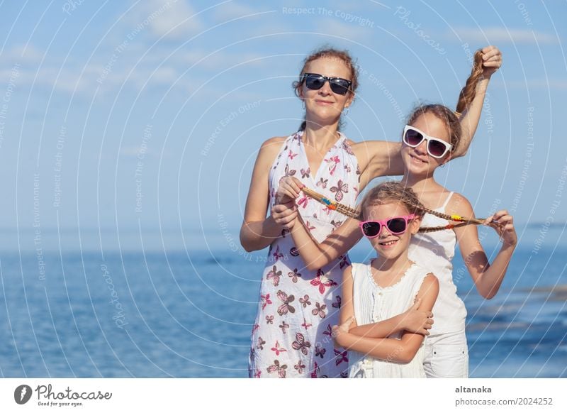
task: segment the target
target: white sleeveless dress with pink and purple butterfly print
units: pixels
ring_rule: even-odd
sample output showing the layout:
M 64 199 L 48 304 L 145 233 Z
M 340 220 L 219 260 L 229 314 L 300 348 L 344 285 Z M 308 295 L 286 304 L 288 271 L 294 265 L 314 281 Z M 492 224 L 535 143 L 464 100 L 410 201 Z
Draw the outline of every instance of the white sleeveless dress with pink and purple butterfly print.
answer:
M 325 197 L 354 206 L 360 171 L 347 139 L 341 135 L 319 170 L 311 171 L 302 136 L 303 132 L 289 136 L 271 167 L 271 205 L 281 178 L 294 176 Z M 305 225 L 319 242 L 345 219 L 303 193 L 296 202 Z M 252 327 L 250 377 L 347 376 L 347 352 L 334 348 L 331 336 L 331 326 L 339 319 L 342 270 L 347 265 L 349 258 L 343 255 L 320 270 L 306 270 L 293 239 L 282 231 L 269 248 L 262 275 L 257 318 Z

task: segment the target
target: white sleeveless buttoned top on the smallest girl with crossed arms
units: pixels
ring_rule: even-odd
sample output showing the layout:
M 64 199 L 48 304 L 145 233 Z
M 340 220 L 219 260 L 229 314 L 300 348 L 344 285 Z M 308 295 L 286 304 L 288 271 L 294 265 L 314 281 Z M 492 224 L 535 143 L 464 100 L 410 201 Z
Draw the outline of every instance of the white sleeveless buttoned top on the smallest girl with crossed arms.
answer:
M 359 326 L 376 323 L 409 309 L 429 270 L 413 264 L 395 285 L 374 282 L 370 263 L 352 264 L 354 317 Z M 401 332 L 388 338 L 401 338 Z M 423 344 L 410 363 L 395 363 L 349 351 L 349 378 L 425 378 Z

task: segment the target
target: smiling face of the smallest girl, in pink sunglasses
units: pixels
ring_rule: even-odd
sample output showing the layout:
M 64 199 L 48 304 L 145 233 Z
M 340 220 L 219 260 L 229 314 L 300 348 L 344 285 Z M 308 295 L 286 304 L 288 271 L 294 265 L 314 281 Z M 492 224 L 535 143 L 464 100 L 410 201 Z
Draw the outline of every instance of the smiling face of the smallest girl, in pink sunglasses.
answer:
M 381 221 L 395 218 L 398 216 L 408 216 L 410 212 L 399 202 L 374 205 L 366 208 L 365 221 Z M 408 251 L 411 236 L 420 229 L 420 219 L 414 218 L 408 221 L 404 233 L 393 234 L 388 230 L 388 226 L 381 226 L 380 233 L 376 238 L 369 238 L 370 243 L 383 258 L 398 258 L 401 254 Z

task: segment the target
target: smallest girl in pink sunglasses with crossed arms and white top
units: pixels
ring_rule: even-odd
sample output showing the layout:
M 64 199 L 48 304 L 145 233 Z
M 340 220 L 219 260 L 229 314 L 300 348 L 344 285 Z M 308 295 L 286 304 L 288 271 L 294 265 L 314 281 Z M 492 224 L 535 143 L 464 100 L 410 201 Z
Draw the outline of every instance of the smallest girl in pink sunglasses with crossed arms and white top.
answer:
M 360 229 L 378 256 L 343 272 L 342 325 L 333 333 L 336 343 L 350 351 L 350 378 L 425 378 L 421 334 L 398 331 L 372 338 L 371 331 L 373 323 L 402 314 L 415 299 L 427 311 L 437 299 L 437 278 L 408 258 L 423 215 L 419 204 L 399 182 L 378 185 L 361 202 Z

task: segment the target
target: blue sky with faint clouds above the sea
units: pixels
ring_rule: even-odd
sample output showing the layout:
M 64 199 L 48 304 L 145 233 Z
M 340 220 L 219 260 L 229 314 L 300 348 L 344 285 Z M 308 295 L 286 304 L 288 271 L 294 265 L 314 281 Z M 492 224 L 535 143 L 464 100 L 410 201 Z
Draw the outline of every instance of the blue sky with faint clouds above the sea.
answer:
M 565 225 L 565 1 L 4 1 L 0 13 L 1 228 L 237 238 L 257 150 L 298 127 L 291 82 L 324 44 L 361 69 L 354 141 L 397 141 L 417 101 L 454 106 L 470 53 L 498 45 L 471 150 L 437 177 L 478 216 L 502 206 Z

